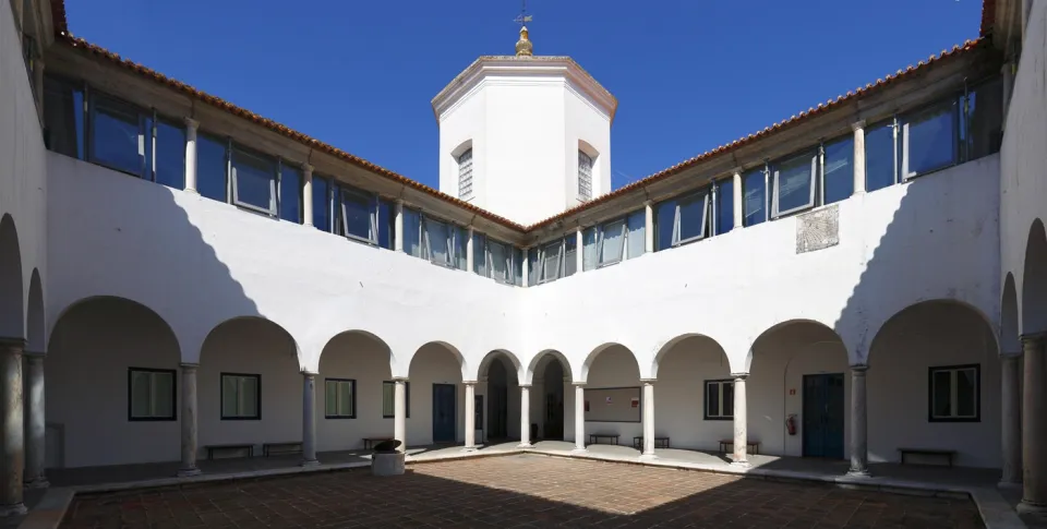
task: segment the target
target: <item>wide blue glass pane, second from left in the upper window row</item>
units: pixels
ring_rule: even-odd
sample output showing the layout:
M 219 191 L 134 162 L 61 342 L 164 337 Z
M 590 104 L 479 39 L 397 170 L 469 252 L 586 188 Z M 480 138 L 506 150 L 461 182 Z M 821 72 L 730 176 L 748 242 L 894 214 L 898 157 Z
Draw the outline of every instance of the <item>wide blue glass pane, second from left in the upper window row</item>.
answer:
M 95 96 L 94 104 L 91 160 L 142 176 L 145 167 L 145 136 L 137 110 L 101 95 Z

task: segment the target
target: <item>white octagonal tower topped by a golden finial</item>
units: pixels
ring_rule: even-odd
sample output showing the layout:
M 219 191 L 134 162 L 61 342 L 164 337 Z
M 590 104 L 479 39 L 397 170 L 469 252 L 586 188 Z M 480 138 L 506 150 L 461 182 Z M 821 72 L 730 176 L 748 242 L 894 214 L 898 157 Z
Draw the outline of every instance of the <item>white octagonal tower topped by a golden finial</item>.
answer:
M 440 190 L 530 225 L 611 191 L 617 99 L 565 56 L 483 56 L 433 98 Z

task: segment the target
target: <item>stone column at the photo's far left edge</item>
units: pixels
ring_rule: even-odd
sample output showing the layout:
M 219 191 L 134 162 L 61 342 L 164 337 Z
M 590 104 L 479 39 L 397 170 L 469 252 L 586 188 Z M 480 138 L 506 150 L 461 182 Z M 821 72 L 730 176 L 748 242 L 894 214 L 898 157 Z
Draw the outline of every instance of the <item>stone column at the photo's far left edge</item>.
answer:
M 0 482 L 0 517 L 25 514 L 22 502 L 22 476 L 25 468 L 25 416 L 22 410 L 22 349 L 21 338 L 0 340 L 0 369 L 3 370 L 3 397 L 0 412 L 3 419 L 3 481 Z

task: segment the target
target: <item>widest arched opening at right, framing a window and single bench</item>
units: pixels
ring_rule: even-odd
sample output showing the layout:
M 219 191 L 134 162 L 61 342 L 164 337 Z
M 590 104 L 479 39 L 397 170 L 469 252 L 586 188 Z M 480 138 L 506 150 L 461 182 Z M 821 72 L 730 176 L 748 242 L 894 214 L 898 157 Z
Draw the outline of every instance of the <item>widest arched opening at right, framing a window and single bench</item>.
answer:
M 999 468 L 999 349 L 976 309 L 952 300 L 903 309 L 874 337 L 866 377 L 871 462 L 918 447 L 955 450 L 955 465 Z

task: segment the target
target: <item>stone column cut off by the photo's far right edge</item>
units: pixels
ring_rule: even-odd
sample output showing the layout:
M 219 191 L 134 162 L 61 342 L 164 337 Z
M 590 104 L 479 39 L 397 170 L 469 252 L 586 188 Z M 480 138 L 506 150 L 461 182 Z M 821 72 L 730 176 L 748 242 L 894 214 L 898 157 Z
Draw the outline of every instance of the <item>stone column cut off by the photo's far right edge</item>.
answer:
M 1022 401 L 1022 503 L 1019 512 L 1047 513 L 1047 362 L 1044 335 L 1022 337 L 1025 384 Z

